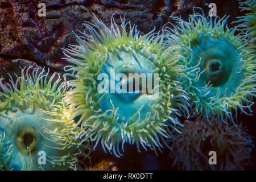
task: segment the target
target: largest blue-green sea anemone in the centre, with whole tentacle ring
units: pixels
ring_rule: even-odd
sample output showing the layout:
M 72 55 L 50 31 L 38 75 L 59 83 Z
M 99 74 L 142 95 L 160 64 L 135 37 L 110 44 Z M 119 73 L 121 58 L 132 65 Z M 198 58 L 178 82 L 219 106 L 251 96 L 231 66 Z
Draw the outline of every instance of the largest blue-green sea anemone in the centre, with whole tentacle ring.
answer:
M 94 148 L 101 143 L 105 152 L 107 148 L 118 157 L 125 143 L 136 144 L 138 151 L 140 146 L 145 150 L 160 149 L 164 138 L 171 137 L 170 129 L 181 125 L 177 116 L 188 112 L 187 94 L 178 81 L 183 70 L 176 65 L 179 56 L 175 49 L 166 48 L 163 35 L 150 32 L 140 36 L 135 26 L 123 20 L 121 29 L 113 18 L 110 28 L 96 17 L 94 23 L 84 26 L 88 32 L 76 35 L 79 46 L 64 49 L 65 59 L 75 64 L 65 68 L 74 73 L 69 75 L 74 79 L 69 81 L 72 89 L 65 100 L 75 111 L 73 116 L 80 117 L 77 138 L 96 141 Z M 127 78 L 119 80 L 111 70 Z M 143 93 L 142 85 L 146 81 L 140 80 L 138 90 L 124 86 L 126 93 L 112 93 L 112 83 L 134 84 L 129 73 L 158 74 L 159 84 L 153 83 L 152 88 L 158 88 L 159 92 Z M 110 83 L 107 91 L 110 93 L 98 92 L 100 74 L 108 77 L 105 81 Z

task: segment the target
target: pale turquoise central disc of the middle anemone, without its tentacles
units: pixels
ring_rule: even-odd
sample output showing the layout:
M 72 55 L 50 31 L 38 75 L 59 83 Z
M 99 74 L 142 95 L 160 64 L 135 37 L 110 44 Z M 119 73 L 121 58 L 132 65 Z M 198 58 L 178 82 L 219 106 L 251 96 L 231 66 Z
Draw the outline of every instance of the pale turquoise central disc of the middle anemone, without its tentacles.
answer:
M 130 119 L 139 109 L 144 119 L 149 110 L 148 100 L 152 94 L 148 94 L 147 81 L 154 77 L 155 65 L 143 52 L 124 49 L 117 53 L 109 53 L 109 59 L 102 67 L 101 73 L 108 75 L 108 93 L 105 93 L 101 102 L 101 109 L 106 111 L 112 109 L 112 104 L 118 107 L 117 116 L 120 119 Z M 126 78 L 119 78 L 118 75 Z M 150 76 L 148 76 L 150 75 Z M 122 85 L 122 86 L 118 86 Z M 126 88 L 123 88 L 125 86 Z M 119 89 L 126 93 L 118 93 Z M 154 88 L 154 81 L 150 88 Z M 146 91 L 146 92 L 143 92 Z

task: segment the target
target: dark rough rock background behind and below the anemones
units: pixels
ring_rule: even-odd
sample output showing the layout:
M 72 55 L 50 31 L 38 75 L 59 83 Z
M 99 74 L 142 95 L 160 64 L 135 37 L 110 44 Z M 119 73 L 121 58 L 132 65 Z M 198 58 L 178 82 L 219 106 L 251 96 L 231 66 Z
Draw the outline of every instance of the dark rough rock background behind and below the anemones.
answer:
M 38 16 L 40 2 L 46 4 L 46 17 Z M 92 13 L 106 24 L 110 24 L 113 14 L 118 24 L 121 23 L 119 16 L 125 16 L 126 20 L 138 25 L 141 34 L 145 34 L 154 26 L 159 31 L 164 25 L 168 26 L 168 22 L 175 23 L 170 16 L 188 19 L 193 6 L 201 7 L 208 14 L 209 8 L 205 3 L 211 2 L 216 3 L 218 16 L 230 15 L 229 28 L 234 26 L 231 23 L 237 16 L 243 15 L 236 0 L 0 0 L 0 77 L 9 78 L 7 73 L 19 75 L 19 67 L 30 65 L 64 73 L 63 67 L 68 63 L 61 60 L 64 57 L 61 48 L 76 44 L 72 31 L 84 30 L 82 23 L 90 22 Z M 255 126 L 251 127 L 255 129 Z M 171 168 L 167 149 L 158 157 L 151 151 L 139 154 L 135 146 L 127 146 L 126 150 L 125 156 L 117 159 L 102 152 L 99 145 L 92 154 L 92 163 L 108 159 L 113 161 L 111 164 L 117 163 L 119 169 L 176 169 Z M 255 167 L 249 166 L 248 169 Z

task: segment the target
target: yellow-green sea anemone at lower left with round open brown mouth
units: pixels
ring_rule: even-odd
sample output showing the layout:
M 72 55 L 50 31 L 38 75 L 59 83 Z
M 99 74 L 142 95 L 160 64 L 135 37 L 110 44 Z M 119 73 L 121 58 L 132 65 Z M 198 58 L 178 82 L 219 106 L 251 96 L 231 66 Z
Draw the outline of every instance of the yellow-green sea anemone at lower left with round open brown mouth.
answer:
M 22 69 L 15 82 L 12 77 L 9 84 L 0 81 L 0 134 L 12 146 L 11 169 L 76 169 L 81 151 L 72 144 L 73 122 L 62 99 L 67 82 L 56 74 L 48 77 L 44 69 L 31 75 L 30 70 Z

